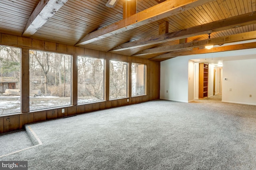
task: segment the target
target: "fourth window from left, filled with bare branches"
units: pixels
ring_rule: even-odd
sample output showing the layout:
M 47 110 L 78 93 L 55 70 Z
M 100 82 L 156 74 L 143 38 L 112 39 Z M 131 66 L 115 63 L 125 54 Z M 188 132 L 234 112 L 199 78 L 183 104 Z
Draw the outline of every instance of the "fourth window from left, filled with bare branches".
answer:
M 127 97 L 127 63 L 110 60 L 109 74 L 109 99 Z

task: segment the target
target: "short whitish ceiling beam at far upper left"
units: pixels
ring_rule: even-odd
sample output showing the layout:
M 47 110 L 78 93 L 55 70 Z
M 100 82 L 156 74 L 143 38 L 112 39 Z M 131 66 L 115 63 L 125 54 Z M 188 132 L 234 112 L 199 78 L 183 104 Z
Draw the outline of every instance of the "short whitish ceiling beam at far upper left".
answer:
M 22 36 L 32 36 L 51 18 L 68 0 L 41 0 L 28 18 Z

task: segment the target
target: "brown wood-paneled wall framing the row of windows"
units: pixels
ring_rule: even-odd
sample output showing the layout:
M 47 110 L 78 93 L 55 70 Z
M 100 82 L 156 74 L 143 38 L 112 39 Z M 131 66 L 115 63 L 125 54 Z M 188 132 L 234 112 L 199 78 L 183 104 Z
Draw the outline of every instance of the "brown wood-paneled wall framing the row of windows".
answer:
M 24 61 L 27 60 L 28 49 L 37 49 L 42 51 L 50 51 L 50 52 L 57 52 L 57 53 L 65 53 L 73 55 L 73 66 L 72 72 L 75 75 L 72 79 L 73 85 L 77 86 L 77 68 L 76 68 L 76 58 L 78 55 L 83 55 L 87 57 L 97 57 L 106 59 L 106 63 L 109 63 L 109 60 L 116 60 L 116 61 L 126 61 L 126 62 L 134 62 L 134 63 L 142 63 L 147 65 L 146 69 L 146 95 L 131 97 L 131 81 L 129 81 L 129 97 L 123 99 L 115 99 L 115 100 L 108 100 L 108 94 L 106 95 L 106 101 L 100 101 L 96 103 L 86 103 L 82 105 L 77 105 L 77 88 L 74 88 L 72 91 L 72 105 L 65 106 L 65 107 L 58 107 L 52 109 L 46 109 L 41 111 L 33 111 L 28 112 L 28 106 L 24 105 L 23 113 L 17 114 L 10 114 L 10 115 L 1 115 L 0 116 L 0 133 L 10 132 L 13 130 L 19 130 L 24 128 L 24 125 L 29 123 L 35 123 L 40 121 L 47 121 L 50 119 L 57 119 L 60 117 L 67 117 L 76 114 L 87 113 L 91 111 L 97 111 L 101 109 L 108 109 L 111 107 L 119 107 L 124 105 L 130 105 L 135 103 L 141 103 L 145 101 L 159 99 L 159 88 L 160 88 L 160 62 L 158 61 L 151 61 L 148 59 L 142 59 L 138 57 L 131 57 L 127 55 L 119 55 L 115 53 L 108 53 L 103 51 L 98 51 L 94 49 L 86 49 L 82 47 L 75 47 L 72 45 L 65 45 L 60 43 L 53 43 L 47 42 L 43 40 L 35 40 L 31 38 L 24 38 L 20 36 L 13 36 L 9 34 L 0 34 L 0 45 L 8 45 L 14 47 L 22 48 L 22 55 L 21 56 L 21 67 L 28 68 L 28 62 Z M 108 68 L 108 67 L 106 67 Z M 130 69 L 129 69 L 130 70 Z M 27 82 L 28 80 L 28 70 L 24 69 L 23 73 L 25 75 L 22 76 L 22 81 Z M 130 70 L 131 71 L 131 70 Z M 131 75 L 129 71 L 129 75 Z M 106 83 L 109 83 L 106 81 Z M 25 84 L 24 84 L 25 85 Z M 22 101 L 29 103 L 29 98 L 26 97 L 25 90 L 26 87 L 22 87 Z M 106 91 L 109 91 L 106 88 Z M 129 99 L 129 102 L 127 101 Z M 64 109 L 64 113 L 62 113 L 62 109 Z M 21 110 L 22 111 L 22 110 Z

